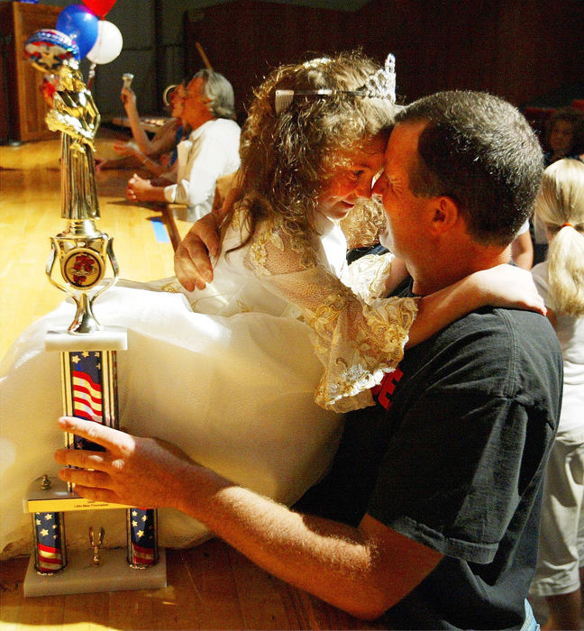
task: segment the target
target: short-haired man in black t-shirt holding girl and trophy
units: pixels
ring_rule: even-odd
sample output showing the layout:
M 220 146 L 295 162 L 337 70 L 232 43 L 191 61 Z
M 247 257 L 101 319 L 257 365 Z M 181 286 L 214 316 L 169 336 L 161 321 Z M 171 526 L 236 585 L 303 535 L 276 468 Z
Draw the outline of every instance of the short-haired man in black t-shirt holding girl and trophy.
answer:
M 383 242 L 411 274 L 403 293 L 508 261 L 541 163 L 525 119 L 497 97 L 441 93 L 400 113 L 375 192 Z M 81 495 L 178 508 L 355 616 L 394 628 L 531 629 L 525 597 L 560 383 L 547 321 L 488 307 L 406 352 L 376 389 L 378 405 L 348 416 L 332 471 L 297 509 L 174 446 L 80 419 L 59 424 L 105 453 L 56 459 L 95 470 L 61 471 Z

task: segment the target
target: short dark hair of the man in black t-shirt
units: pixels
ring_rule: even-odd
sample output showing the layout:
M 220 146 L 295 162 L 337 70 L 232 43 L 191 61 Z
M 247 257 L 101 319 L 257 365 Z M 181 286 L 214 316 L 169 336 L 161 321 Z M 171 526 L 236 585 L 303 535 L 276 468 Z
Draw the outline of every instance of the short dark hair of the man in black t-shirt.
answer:
M 427 121 L 410 165 L 416 196 L 452 197 L 470 234 L 506 245 L 531 215 L 543 171 L 534 131 L 516 107 L 484 92 L 452 90 L 424 96 L 396 123 Z

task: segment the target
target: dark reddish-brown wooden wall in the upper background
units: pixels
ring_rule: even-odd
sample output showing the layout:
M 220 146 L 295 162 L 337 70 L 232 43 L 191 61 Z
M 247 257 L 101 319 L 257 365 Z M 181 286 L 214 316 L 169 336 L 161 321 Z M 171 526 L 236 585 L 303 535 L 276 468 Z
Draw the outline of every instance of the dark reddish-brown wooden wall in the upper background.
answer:
M 273 66 L 355 47 L 379 61 L 396 54 L 406 101 L 462 88 L 524 105 L 584 78 L 583 8 L 582 0 L 372 0 L 346 13 L 236 0 L 186 14 L 185 69 L 203 66 L 199 41 L 232 82 L 240 118 Z

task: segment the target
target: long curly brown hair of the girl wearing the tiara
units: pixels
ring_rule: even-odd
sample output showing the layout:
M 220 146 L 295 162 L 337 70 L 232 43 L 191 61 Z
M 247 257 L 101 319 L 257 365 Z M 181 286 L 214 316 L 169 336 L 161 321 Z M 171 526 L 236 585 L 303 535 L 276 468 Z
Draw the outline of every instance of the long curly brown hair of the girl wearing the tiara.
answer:
M 357 90 L 378 69 L 360 51 L 342 52 L 280 66 L 255 90 L 242 131 L 235 205 L 249 229 L 245 242 L 260 222 L 277 216 L 293 237 L 303 239 L 314 232 L 321 191 L 348 165 L 357 143 L 389 133 L 395 114 L 388 99 L 342 94 L 294 96 L 277 114 L 276 90 Z

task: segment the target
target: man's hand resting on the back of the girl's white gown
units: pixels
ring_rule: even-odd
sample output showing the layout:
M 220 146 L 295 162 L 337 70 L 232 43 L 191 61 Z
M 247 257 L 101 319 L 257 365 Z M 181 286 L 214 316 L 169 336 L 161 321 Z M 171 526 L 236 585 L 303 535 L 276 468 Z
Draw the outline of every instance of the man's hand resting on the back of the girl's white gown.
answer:
M 220 248 L 217 220 L 209 213 L 193 224 L 175 252 L 175 274 L 187 291 L 203 289 L 213 280 L 211 258 Z

